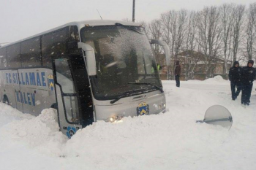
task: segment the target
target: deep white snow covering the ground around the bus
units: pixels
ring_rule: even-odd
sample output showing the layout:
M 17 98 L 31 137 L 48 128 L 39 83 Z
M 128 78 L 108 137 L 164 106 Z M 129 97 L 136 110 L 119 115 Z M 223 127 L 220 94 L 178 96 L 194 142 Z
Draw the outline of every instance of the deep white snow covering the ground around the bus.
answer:
M 53 109 L 34 117 L 0 104 L 0 169 L 256 169 L 255 86 L 244 108 L 218 77 L 181 82 L 181 88 L 174 81 L 163 85 L 165 114 L 99 121 L 69 140 Z M 233 115 L 229 131 L 195 123 L 214 104 Z

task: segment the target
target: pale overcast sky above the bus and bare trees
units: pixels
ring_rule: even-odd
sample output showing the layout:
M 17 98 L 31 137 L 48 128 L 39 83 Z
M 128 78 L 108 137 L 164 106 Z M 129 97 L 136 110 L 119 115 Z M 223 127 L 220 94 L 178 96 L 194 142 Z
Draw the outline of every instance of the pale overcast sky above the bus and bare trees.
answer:
M 135 20 L 159 18 L 170 9 L 203 9 L 224 3 L 255 0 L 136 0 Z M 79 20 L 132 20 L 132 0 L 0 0 L 0 43 L 15 42 L 56 26 Z

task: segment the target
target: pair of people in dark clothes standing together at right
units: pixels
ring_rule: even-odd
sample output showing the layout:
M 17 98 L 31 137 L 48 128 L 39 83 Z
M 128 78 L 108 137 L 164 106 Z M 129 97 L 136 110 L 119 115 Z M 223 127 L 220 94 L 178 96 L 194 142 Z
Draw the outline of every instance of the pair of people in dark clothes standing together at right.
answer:
M 232 99 L 236 100 L 242 91 L 241 104 L 250 103 L 253 81 L 256 77 L 256 70 L 253 68 L 254 61 L 249 60 L 247 66 L 241 68 L 239 62 L 235 61 L 228 74 L 231 86 Z

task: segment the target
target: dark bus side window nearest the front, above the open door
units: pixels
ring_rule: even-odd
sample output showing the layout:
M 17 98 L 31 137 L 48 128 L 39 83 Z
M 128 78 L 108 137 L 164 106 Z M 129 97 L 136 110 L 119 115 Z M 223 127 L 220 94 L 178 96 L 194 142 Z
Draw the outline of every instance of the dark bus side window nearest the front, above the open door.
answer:
M 51 56 L 67 55 L 67 28 L 42 36 L 42 65 L 52 67 Z

